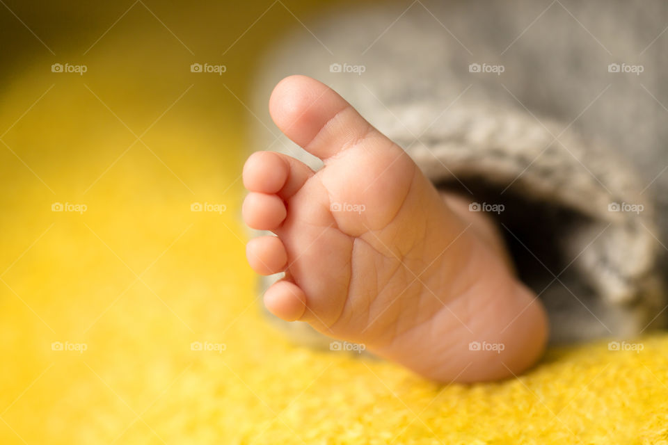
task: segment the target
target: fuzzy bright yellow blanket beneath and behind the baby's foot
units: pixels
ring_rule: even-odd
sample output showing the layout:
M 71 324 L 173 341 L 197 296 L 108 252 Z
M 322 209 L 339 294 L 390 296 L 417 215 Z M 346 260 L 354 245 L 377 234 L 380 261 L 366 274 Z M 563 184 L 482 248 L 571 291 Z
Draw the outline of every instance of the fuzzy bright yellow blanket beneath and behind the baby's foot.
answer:
M 239 218 L 250 85 L 267 45 L 331 4 L 0 3 L 1 444 L 666 438 L 643 405 L 667 400 L 661 357 L 640 385 L 630 355 L 571 349 L 441 388 L 262 318 Z M 613 371 L 610 400 L 591 397 Z

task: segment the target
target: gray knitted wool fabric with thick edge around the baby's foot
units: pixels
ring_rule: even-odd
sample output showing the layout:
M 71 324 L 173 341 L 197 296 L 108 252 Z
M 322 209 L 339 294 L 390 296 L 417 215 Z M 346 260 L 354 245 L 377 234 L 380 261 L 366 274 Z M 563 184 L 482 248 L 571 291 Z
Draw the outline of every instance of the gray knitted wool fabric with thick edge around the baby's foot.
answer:
M 258 72 L 255 149 L 319 168 L 264 111 L 280 79 L 312 76 L 491 210 L 553 342 L 665 324 L 668 3 L 378 3 L 305 26 Z

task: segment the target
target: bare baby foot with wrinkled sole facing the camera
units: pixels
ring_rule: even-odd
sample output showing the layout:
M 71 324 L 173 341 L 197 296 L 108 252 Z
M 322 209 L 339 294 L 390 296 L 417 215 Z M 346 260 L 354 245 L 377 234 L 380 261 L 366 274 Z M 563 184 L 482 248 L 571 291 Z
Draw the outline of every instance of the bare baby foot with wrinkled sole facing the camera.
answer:
M 546 316 L 481 229 L 486 217 L 443 200 L 403 149 L 314 79 L 281 81 L 269 111 L 324 161 L 315 172 L 257 152 L 244 166 L 244 220 L 277 235 L 251 240 L 248 262 L 286 273 L 264 295 L 269 311 L 439 382 L 536 362 Z

